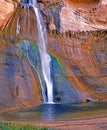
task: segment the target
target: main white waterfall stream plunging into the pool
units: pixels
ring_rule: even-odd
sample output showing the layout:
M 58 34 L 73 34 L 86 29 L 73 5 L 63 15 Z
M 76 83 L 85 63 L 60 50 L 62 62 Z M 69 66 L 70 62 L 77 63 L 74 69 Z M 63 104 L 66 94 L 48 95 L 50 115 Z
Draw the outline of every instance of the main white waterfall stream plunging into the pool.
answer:
M 47 101 L 48 103 L 53 103 L 53 84 L 51 81 L 50 74 L 50 61 L 51 57 L 47 53 L 46 44 L 47 44 L 47 33 L 43 17 L 40 13 L 40 10 L 37 5 L 36 0 L 28 0 L 26 3 L 33 8 L 35 12 L 35 17 L 37 19 L 37 33 L 38 33 L 38 49 L 41 59 L 41 69 L 43 78 L 45 81 L 46 92 L 47 92 Z M 43 86 L 42 86 L 43 87 Z

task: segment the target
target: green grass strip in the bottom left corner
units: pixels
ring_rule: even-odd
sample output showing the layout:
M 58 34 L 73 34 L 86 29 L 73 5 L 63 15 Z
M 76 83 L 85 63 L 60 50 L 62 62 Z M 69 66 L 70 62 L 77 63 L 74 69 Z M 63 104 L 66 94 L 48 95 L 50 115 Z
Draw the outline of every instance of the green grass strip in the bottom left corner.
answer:
M 0 130 L 52 130 L 47 127 L 24 125 L 21 123 L 0 122 Z

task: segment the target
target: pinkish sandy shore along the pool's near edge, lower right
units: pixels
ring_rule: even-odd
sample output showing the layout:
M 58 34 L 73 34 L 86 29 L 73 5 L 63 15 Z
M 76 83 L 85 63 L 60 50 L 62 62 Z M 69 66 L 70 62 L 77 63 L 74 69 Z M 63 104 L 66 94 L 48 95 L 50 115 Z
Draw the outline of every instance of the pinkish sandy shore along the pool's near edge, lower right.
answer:
M 107 117 L 72 121 L 35 122 L 33 124 L 57 130 L 107 130 Z

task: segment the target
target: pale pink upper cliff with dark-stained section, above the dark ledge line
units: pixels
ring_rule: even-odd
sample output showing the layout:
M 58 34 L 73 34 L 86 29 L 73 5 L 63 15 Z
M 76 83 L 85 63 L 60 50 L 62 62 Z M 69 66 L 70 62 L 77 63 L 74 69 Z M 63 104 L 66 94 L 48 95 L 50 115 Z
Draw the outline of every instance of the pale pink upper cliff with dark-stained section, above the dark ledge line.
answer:
M 50 30 L 60 32 L 107 29 L 107 2 L 99 0 L 65 0 L 40 6 L 48 15 Z M 47 12 L 48 10 L 48 12 Z M 59 19 L 58 19 L 59 17 Z M 58 23 L 59 22 L 59 23 Z M 60 25 L 60 26 L 59 26 Z

